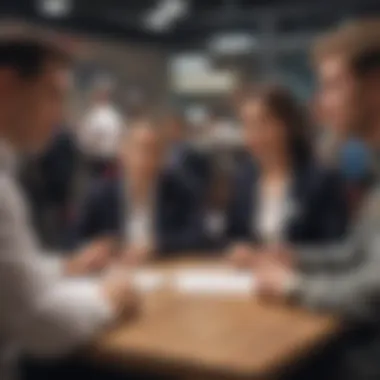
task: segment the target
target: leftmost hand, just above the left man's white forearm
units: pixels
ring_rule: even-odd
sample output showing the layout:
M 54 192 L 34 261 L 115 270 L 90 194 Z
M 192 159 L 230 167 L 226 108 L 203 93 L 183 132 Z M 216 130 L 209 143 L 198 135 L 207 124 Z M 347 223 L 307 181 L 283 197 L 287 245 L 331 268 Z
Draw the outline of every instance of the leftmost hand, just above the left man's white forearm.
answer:
M 70 276 L 80 276 L 98 272 L 108 265 L 112 253 L 112 239 L 101 238 L 96 240 L 66 261 L 65 273 Z

